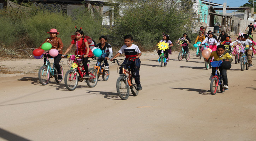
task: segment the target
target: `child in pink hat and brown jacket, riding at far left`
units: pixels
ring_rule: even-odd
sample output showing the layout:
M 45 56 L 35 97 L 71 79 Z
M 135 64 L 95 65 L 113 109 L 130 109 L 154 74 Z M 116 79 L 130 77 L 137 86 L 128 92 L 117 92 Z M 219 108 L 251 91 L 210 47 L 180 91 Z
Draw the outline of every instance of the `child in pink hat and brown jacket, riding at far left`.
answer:
M 61 39 L 57 37 L 59 32 L 56 29 L 50 29 L 50 31 L 47 32 L 47 33 L 50 34 L 50 37 L 46 38 L 43 43 L 46 43 L 46 42 L 50 43 L 50 44 L 52 44 L 52 48 L 51 49 L 57 49 L 59 51 L 59 54 L 54 57 L 54 62 L 53 63 L 54 63 L 54 66 L 56 67 L 57 72 L 58 72 L 58 79 L 61 80 L 62 79 L 62 75 L 61 75 L 60 64 L 59 63 L 60 63 L 60 60 L 61 60 L 63 43 L 62 43 Z M 38 48 L 41 48 L 42 44 Z M 52 57 L 49 54 L 48 55 L 44 54 L 44 57 L 43 57 L 44 64 L 46 63 L 47 56 L 48 57 Z

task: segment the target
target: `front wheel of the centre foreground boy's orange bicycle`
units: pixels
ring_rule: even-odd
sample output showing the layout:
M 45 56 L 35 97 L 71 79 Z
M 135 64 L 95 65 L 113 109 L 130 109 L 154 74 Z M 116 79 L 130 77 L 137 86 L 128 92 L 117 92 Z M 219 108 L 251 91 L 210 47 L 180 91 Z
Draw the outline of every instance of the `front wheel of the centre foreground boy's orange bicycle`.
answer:
M 117 93 L 123 100 L 126 100 L 129 97 L 129 85 L 124 76 L 119 76 L 117 79 Z

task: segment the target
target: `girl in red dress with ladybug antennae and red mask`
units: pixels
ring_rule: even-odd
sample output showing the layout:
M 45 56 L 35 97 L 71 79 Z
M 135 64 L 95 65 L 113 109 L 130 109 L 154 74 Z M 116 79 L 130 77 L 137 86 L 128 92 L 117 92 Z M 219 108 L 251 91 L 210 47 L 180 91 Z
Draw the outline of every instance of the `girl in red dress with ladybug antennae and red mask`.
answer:
M 81 29 L 82 27 L 80 28 L 80 30 L 77 29 L 75 33 L 76 38 L 71 41 L 69 48 L 67 48 L 65 53 L 62 55 L 62 58 L 64 58 L 64 56 L 70 51 L 73 45 L 76 44 L 75 55 L 78 54 L 83 56 L 82 62 L 85 70 L 85 76 L 83 78 L 90 78 L 87 60 L 89 59 L 89 57 L 93 57 L 93 53 L 88 45 L 87 39 L 84 38 L 84 32 L 81 31 Z

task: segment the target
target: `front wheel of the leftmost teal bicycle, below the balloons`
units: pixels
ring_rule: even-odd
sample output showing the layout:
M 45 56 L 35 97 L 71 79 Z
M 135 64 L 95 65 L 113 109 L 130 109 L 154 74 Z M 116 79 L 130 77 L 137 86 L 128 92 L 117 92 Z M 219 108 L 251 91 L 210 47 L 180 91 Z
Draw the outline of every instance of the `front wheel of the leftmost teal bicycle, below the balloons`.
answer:
M 47 66 L 40 67 L 38 71 L 38 78 L 42 85 L 47 85 L 50 81 L 50 72 L 47 71 Z

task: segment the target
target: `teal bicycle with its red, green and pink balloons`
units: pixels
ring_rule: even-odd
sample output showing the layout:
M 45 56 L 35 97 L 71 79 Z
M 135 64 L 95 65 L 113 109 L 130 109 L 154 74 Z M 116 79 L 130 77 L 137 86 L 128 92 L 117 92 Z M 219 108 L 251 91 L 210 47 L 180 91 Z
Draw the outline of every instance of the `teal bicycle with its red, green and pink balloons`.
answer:
M 59 51 L 56 49 L 51 49 L 52 45 L 50 43 L 43 43 L 41 48 L 42 49 L 35 49 L 33 51 L 35 59 L 41 59 L 44 54 L 46 54 L 46 62 L 42 67 L 40 67 L 38 71 L 38 78 L 40 83 L 42 85 L 47 85 L 50 81 L 50 78 L 53 77 L 57 83 L 61 82 L 63 78 L 62 66 L 60 65 L 61 74 L 58 74 L 56 67 L 54 65 L 51 67 L 50 61 L 48 59 L 48 57 L 57 56 L 59 54 Z M 61 75 L 61 79 L 60 77 L 58 77 L 58 75 Z

